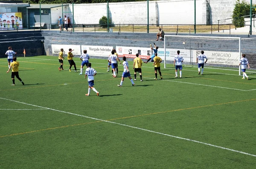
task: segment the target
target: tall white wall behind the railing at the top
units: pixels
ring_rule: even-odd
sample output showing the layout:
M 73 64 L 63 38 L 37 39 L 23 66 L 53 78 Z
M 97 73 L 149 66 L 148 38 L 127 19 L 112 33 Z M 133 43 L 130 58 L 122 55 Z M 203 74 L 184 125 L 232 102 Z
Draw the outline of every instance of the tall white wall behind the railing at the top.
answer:
M 236 0 L 156 0 L 149 1 L 149 24 L 194 24 L 195 2 L 196 24 L 232 22 L 224 19 L 232 17 Z M 69 8 L 72 12 L 72 4 Z M 114 24 L 147 24 L 147 1 L 109 3 L 109 15 Z M 107 16 L 107 3 L 74 4 L 75 24 L 98 24 L 102 16 Z

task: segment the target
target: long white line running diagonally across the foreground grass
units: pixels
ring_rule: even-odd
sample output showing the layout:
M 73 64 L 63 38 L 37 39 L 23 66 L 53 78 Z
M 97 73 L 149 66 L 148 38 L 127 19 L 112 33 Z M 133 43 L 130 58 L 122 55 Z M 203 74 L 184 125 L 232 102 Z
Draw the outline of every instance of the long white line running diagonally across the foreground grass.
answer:
M 213 144 L 204 143 L 204 142 L 201 142 L 201 141 L 192 140 L 192 139 L 188 139 L 188 138 L 177 137 L 177 136 L 174 136 L 174 135 L 168 135 L 168 134 L 164 134 L 164 133 L 160 133 L 160 132 L 155 132 L 155 131 L 152 131 L 152 130 L 143 129 L 143 128 L 139 128 L 139 127 L 134 127 L 134 126 L 130 126 L 130 125 L 122 124 L 122 123 L 116 123 L 116 122 L 113 122 L 113 121 L 102 120 L 102 119 L 98 119 L 98 118 L 94 118 L 94 117 L 88 117 L 88 116 L 84 116 L 84 115 L 78 115 L 78 114 L 75 114 L 75 113 L 70 113 L 70 112 L 65 112 L 65 111 L 61 111 L 61 110 L 51 109 L 51 108 L 47 108 L 47 107 L 43 107 L 43 106 L 37 106 L 37 105 L 29 104 L 29 103 L 23 103 L 23 102 L 20 102 L 20 101 L 10 100 L 10 99 L 6 99 L 6 98 L 2 98 L 2 97 L 0 97 L 0 99 L 9 100 L 9 101 L 13 101 L 13 102 L 16 102 L 16 103 L 22 103 L 22 104 L 26 104 L 26 105 L 29 105 L 29 106 L 35 106 L 35 107 L 40 107 L 40 108 L 44 108 L 44 109 L 49 109 L 49 110 L 56 111 L 56 112 L 63 112 L 63 113 L 67 113 L 67 114 L 70 114 L 70 115 L 86 117 L 86 118 L 90 118 L 90 119 L 97 120 L 97 121 L 117 124 L 117 125 L 120 125 L 120 126 L 126 126 L 126 127 L 130 127 L 130 128 L 133 128 L 133 129 L 139 129 L 139 130 L 143 130 L 143 131 L 146 131 L 146 132 L 156 133 L 156 134 L 159 134 L 159 135 L 165 135 L 165 136 L 174 137 L 174 138 L 178 138 L 178 139 L 182 139 L 182 140 L 192 141 L 192 142 L 195 142 L 195 143 L 201 143 L 201 144 L 204 144 L 204 145 L 207 145 L 207 146 L 213 146 L 213 147 L 216 147 L 216 148 L 226 149 L 226 150 L 229 150 L 229 151 L 232 151 L 232 152 L 238 152 L 238 153 L 241 153 L 241 154 L 256 157 L 256 155 L 249 154 L 249 153 L 246 153 L 246 152 L 241 152 L 241 151 L 234 150 L 234 149 L 229 149 L 229 148 L 225 148 L 225 147 L 221 147 L 221 146 L 216 146 L 216 145 L 213 145 Z M 46 130 L 46 129 L 44 129 L 44 130 Z

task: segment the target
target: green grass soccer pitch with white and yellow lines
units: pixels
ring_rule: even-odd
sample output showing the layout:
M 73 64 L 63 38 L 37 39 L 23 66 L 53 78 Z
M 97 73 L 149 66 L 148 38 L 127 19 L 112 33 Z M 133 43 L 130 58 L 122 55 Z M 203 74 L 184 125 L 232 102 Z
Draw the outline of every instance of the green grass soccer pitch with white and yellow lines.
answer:
M 11 86 L 0 59 L 1 169 L 255 169 L 254 74 L 183 67 L 180 79 L 168 65 L 154 80 L 143 63 L 143 82 L 118 87 L 122 65 L 113 78 L 107 60 L 91 58 L 99 97 L 87 97 L 87 79 L 68 71 L 67 58 L 61 72 L 58 57 L 17 61 L 24 86 Z

